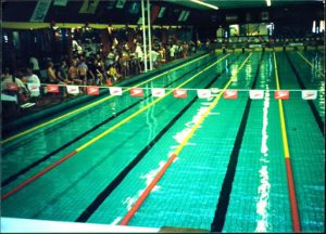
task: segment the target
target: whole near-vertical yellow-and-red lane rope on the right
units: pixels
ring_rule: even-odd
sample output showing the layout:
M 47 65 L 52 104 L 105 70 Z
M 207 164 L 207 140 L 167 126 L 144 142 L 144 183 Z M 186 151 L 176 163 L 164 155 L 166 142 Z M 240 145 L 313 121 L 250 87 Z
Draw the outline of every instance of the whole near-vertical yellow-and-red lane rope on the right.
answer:
M 274 55 L 274 70 L 275 70 L 276 88 L 277 88 L 277 90 L 280 90 L 275 52 L 273 53 L 273 55 Z M 280 119 L 284 156 L 285 156 L 286 170 L 287 170 L 287 182 L 288 182 L 288 192 L 289 192 L 289 199 L 290 199 L 292 230 L 293 230 L 293 232 L 301 232 L 300 218 L 299 218 L 297 197 L 296 197 L 294 180 L 293 180 L 291 161 L 290 161 L 290 153 L 289 153 L 287 130 L 286 130 L 286 123 L 285 123 L 285 117 L 284 117 L 284 109 L 283 109 L 281 100 L 278 100 L 278 109 L 279 109 L 279 119 Z

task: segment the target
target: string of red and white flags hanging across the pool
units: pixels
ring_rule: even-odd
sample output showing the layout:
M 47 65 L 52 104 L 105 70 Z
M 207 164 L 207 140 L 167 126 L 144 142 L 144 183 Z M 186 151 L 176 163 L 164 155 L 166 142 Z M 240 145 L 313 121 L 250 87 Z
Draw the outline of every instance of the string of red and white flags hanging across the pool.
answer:
M 30 93 L 39 93 L 40 84 L 32 84 L 28 83 L 27 88 Z M 96 87 L 96 86 L 61 86 L 61 84 L 46 84 L 46 90 L 49 93 L 59 93 L 60 87 L 66 87 L 66 91 L 70 94 L 78 94 L 82 92 L 80 88 L 85 87 L 85 91 L 88 95 L 99 95 L 100 88 L 109 89 L 111 95 L 123 95 L 123 87 Z M 151 94 L 154 98 L 161 98 L 165 95 L 166 90 L 173 90 L 173 96 L 175 99 L 187 99 L 188 91 L 197 91 L 197 95 L 199 99 L 210 99 L 222 90 L 217 88 L 211 89 L 173 89 L 173 88 L 124 88 L 129 89 L 129 95 L 135 98 L 142 98 L 145 95 L 143 90 L 150 89 Z M 249 92 L 249 98 L 251 100 L 262 100 L 265 96 L 266 92 L 274 92 L 275 100 L 289 100 L 290 91 L 300 91 L 302 100 L 315 100 L 317 99 L 318 91 L 317 90 L 236 90 L 236 89 L 227 89 L 223 93 L 223 98 L 226 100 L 237 100 L 238 93 L 241 91 Z

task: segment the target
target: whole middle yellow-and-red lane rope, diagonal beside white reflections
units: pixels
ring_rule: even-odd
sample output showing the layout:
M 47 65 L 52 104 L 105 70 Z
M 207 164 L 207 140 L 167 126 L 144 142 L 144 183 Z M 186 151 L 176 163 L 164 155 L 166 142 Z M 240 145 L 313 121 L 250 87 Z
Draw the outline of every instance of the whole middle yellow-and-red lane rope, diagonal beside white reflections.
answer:
M 185 145 L 188 143 L 188 141 L 191 139 L 193 133 L 197 131 L 197 129 L 200 127 L 200 125 L 203 122 L 203 120 L 206 118 L 206 116 L 210 114 L 210 112 L 216 106 L 218 103 L 221 96 L 223 95 L 224 91 L 230 86 L 230 83 L 236 78 L 239 70 L 244 66 L 247 61 L 250 58 L 252 53 L 250 53 L 244 62 L 241 64 L 241 66 L 237 69 L 237 72 L 231 76 L 230 80 L 226 83 L 226 86 L 221 90 L 218 95 L 215 98 L 215 100 L 212 102 L 212 104 L 208 107 L 208 109 L 203 113 L 201 118 L 198 120 L 198 122 L 191 128 L 187 136 L 184 139 L 184 141 L 178 145 L 176 151 L 172 153 L 168 160 L 165 162 L 165 165 L 162 167 L 162 169 L 159 171 L 159 173 L 155 176 L 155 178 L 152 180 L 152 182 L 146 187 L 146 190 L 142 192 L 142 194 L 139 196 L 135 205 L 131 207 L 131 209 L 126 213 L 126 216 L 122 219 L 120 222 L 120 225 L 127 225 L 130 219 L 134 217 L 134 214 L 137 212 L 137 210 L 140 208 L 141 204 L 145 202 L 145 199 L 148 197 L 150 192 L 154 188 L 156 183 L 160 181 L 160 179 L 163 177 L 167 168 L 171 166 L 171 164 L 175 160 L 175 158 L 178 156 L 178 154 L 183 151 Z

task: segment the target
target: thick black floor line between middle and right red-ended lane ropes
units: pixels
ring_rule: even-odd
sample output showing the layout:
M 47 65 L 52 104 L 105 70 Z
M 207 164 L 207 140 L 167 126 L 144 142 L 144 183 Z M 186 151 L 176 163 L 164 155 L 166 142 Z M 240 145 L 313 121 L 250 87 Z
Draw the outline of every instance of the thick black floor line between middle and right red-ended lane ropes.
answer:
M 261 68 L 261 64 L 263 61 L 263 56 L 264 56 L 264 52 L 262 53 L 262 56 L 260 58 L 256 73 L 254 75 L 254 80 L 251 84 L 251 89 L 255 88 L 260 68 Z M 250 106 L 251 106 L 251 99 L 248 99 L 246 107 L 244 107 L 244 112 L 242 115 L 241 123 L 240 123 L 239 130 L 237 132 L 234 148 L 230 154 L 230 159 L 227 165 L 227 171 L 226 171 L 226 174 L 223 180 L 223 185 L 222 185 L 222 188 L 220 192 L 220 197 L 218 197 L 214 219 L 211 224 L 211 232 L 222 232 L 223 226 L 224 226 L 225 217 L 226 217 L 226 212 L 227 212 L 227 208 L 228 208 L 228 204 L 229 204 L 229 197 L 230 197 L 230 193 L 233 190 L 233 183 L 234 183 L 236 169 L 237 169 L 237 165 L 238 165 L 238 157 L 239 157 L 241 143 L 242 143 L 242 139 L 243 139 L 243 134 L 244 134 L 244 130 L 246 130 L 246 126 L 247 126 L 247 121 L 248 121 L 248 116 L 249 116 L 249 112 L 250 112 Z

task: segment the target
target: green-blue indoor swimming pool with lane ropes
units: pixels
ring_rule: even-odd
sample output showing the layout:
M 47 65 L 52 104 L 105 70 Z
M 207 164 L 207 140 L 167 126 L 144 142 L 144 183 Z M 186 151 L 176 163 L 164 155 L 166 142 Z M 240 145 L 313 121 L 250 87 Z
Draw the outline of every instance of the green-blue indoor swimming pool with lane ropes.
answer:
M 120 224 L 166 169 L 128 225 L 291 232 L 277 72 L 280 89 L 290 90 L 283 109 L 301 229 L 322 232 L 323 57 L 204 55 L 141 84 L 143 98 L 126 90 L 4 142 L 2 216 Z M 162 87 L 164 96 L 150 95 Z M 173 88 L 188 89 L 187 98 L 174 98 Z M 209 88 L 220 92 L 198 99 L 196 89 Z M 222 98 L 224 88 L 238 99 Z M 250 100 L 250 89 L 265 90 L 264 99 Z M 317 99 L 302 100 L 303 89 L 318 90 Z

